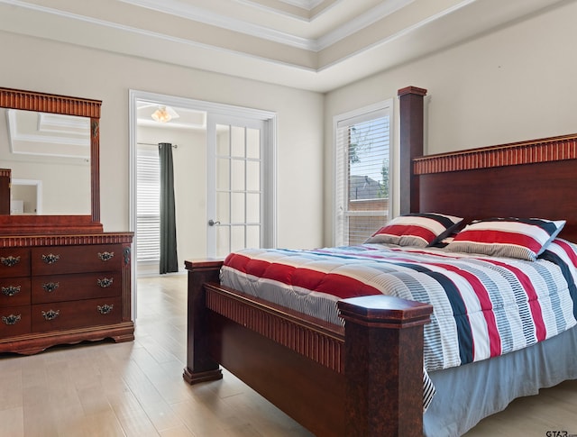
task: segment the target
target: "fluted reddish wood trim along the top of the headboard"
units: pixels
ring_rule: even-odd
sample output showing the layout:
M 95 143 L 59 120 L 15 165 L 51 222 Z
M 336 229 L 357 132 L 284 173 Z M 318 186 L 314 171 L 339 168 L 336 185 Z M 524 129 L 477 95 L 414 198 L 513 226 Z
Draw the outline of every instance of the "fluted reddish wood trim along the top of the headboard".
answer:
M 577 159 L 577 133 L 414 159 L 416 175 Z

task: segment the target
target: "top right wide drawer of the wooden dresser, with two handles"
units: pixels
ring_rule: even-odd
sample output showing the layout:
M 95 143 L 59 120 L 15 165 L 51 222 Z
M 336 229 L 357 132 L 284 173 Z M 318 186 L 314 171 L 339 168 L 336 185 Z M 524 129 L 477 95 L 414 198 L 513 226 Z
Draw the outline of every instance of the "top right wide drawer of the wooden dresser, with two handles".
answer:
M 32 275 L 120 270 L 122 244 L 52 246 L 32 249 Z

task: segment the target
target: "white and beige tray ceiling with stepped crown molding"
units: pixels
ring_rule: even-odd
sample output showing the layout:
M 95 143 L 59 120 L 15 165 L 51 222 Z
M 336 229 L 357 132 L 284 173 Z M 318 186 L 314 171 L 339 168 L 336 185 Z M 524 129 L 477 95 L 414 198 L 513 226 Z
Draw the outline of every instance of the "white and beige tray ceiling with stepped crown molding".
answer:
M 0 0 L 0 30 L 325 92 L 562 1 Z

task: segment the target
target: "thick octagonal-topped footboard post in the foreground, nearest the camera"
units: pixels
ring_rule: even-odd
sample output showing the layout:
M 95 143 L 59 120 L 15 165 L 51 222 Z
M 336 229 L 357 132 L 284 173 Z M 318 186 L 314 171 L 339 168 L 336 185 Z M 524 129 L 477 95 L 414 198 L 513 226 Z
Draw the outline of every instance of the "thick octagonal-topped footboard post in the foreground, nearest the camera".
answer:
M 393 296 L 338 303 L 348 437 L 423 435 L 423 325 L 433 306 Z

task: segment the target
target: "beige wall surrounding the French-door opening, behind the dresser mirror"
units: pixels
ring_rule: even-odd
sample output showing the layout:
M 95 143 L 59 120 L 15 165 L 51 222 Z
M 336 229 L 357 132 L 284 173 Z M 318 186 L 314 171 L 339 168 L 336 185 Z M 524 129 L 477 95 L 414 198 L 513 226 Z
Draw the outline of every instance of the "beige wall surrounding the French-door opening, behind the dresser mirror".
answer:
M 100 204 L 105 231 L 129 227 L 128 93 L 136 89 L 276 112 L 278 244 L 322 244 L 322 95 L 6 32 L 0 32 L 0 59 L 0 86 L 103 101 Z

